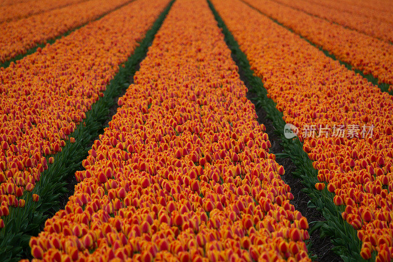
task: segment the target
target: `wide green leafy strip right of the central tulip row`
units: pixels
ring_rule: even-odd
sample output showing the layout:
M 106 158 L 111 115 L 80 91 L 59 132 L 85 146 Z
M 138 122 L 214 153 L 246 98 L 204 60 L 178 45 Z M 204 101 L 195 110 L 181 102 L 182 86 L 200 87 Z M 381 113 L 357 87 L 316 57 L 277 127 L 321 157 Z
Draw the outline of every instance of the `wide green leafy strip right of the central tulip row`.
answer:
M 337 206 L 333 202 L 334 193 L 330 193 L 325 187 L 324 190 L 315 189 L 315 183 L 318 172 L 312 167 L 312 161 L 307 153 L 303 150 L 303 144 L 299 139 L 286 139 L 284 136 L 283 113 L 276 108 L 276 103 L 268 98 L 267 90 L 263 87 L 262 80 L 254 75 L 251 70 L 247 56 L 240 50 L 240 47 L 234 39 L 231 32 L 225 26 L 213 4 L 207 0 L 220 28 L 223 29 L 225 41 L 232 51 L 232 55 L 238 60 L 238 66 L 242 69 L 245 78 L 252 88 L 251 91 L 256 94 L 257 100 L 254 101 L 256 106 L 263 108 L 267 112 L 267 117 L 273 121 L 277 134 L 280 136 L 284 151 L 290 156 L 292 162 L 296 166 L 293 175 L 300 177 L 306 192 L 310 199 L 310 207 L 315 207 L 322 213 L 326 221 L 319 221 L 310 225 L 310 232 L 316 229 L 321 230 L 321 238 L 330 236 L 332 243 L 335 245 L 333 251 L 341 257 L 345 262 L 365 261 L 360 256 L 362 243 L 357 236 L 356 230 L 341 218 L 341 212 L 344 211 L 343 206 Z M 311 243 L 312 244 L 312 243 Z M 310 254 L 312 257 L 312 254 Z M 375 252 L 371 261 L 375 261 Z

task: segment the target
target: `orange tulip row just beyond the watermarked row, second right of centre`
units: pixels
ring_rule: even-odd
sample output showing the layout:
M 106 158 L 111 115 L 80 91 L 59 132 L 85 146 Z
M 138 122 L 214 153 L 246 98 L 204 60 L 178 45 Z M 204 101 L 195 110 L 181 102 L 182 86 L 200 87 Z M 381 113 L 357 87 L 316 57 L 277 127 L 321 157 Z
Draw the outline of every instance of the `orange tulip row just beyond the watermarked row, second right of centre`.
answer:
M 371 74 L 392 90 L 393 46 L 374 37 L 306 14 L 272 0 L 244 0 L 338 59 Z

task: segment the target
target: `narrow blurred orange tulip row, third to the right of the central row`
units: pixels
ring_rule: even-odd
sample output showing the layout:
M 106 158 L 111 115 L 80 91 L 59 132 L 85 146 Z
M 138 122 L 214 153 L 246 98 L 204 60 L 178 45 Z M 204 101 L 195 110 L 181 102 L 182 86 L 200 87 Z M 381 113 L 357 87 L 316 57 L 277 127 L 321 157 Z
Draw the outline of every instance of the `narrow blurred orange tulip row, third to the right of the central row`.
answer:
M 374 17 L 359 15 L 358 13 L 350 13 L 346 11 L 337 10 L 337 8 L 326 7 L 320 3 L 312 3 L 308 0 L 289 1 L 289 0 L 275 0 L 284 5 L 288 5 L 295 9 L 304 11 L 311 15 L 324 18 L 328 21 L 337 23 L 344 27 L 357 30 L 367 35 L 373 36 L 386 42 L 393 42 L 393 20 L 389 22 L 375 19 Z M 376 11 L 377 17 L 381 16 L 380 11 Z M 392 19 L 392 14 L 387 15 L 387 18 Z

